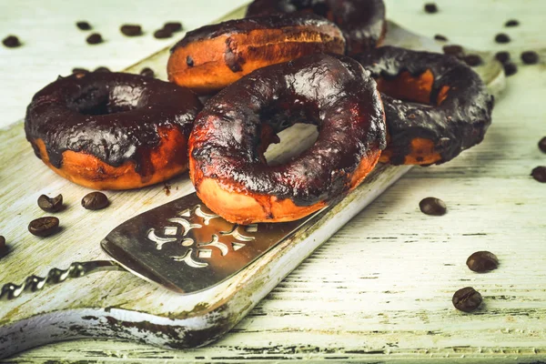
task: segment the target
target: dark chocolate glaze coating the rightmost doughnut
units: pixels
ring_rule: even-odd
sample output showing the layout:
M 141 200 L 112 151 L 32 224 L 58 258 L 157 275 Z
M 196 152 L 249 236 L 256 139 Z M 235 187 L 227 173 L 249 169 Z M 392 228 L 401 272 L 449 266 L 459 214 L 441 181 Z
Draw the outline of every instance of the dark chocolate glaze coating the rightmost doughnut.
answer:
M 430 105 L 381 94 L 389 128 L 389 149 L 393 152 L 391 164 L 404 163 L 410 142 L 416 137 L 433 141 L 441 157 L 436 164 L 457 157 L 462 150 L 483 140 L 491 123 L 493 96 L 480 76 L 456 57 L 383 46 L 355 59 L 375 78 L 397 77 L 404 71 L 420 76 L 427 70 L 434 76 Z M 439 106 L 436 100 L 442 86 L 450 89 Z

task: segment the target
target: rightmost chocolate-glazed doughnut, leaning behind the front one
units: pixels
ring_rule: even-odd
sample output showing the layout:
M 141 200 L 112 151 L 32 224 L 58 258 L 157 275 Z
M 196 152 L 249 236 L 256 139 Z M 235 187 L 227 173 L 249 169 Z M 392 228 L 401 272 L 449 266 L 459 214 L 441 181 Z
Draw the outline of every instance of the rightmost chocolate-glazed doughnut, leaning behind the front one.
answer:
M 493 96 L 454 56 L 383 46 L 354 57 L 376 79 L 385 107 L 381 162 L 441 164 L 483 140 Z

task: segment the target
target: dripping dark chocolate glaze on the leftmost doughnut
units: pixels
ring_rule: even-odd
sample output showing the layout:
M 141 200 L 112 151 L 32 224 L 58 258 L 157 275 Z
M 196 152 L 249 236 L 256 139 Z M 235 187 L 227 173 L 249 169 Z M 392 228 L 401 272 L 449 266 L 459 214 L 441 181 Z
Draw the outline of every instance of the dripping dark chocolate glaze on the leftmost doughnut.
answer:
M 134 161 L 147 170 L 157 147 L 158 128 L 177 127 L 189 136 L 202 108 L 186 88 L 149 77 L 122 73 L 80 73 L 59 77 L 45 86 L 26 109 L 26 139 L 41 157 L 42 139 L 51 164 L 61 167 L 63 152 L 95 156 L 113 167 Z M 149 166 L 148 166 L 149 167 Z

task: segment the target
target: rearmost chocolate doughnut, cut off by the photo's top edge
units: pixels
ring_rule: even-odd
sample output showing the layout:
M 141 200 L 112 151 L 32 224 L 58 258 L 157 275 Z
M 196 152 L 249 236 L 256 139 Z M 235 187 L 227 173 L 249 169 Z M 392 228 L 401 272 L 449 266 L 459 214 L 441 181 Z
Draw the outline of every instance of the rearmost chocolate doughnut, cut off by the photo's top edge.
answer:
M 294 12 L 315 13 L 338 25 L 349 56 L 375 48 L 387 31 L 383 0 L 255 0 L 247 16 Z

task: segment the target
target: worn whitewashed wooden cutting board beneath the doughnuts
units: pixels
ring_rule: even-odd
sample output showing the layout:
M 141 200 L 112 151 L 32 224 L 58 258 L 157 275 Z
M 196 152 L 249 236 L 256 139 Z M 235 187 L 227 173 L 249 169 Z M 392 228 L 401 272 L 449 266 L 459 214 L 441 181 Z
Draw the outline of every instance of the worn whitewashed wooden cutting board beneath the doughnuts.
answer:
M 221 20 L 238 18 L 240 8 Z M 440 51 L 435 41 L 411 34 L 389 23 L 386 44 L 412 49 Z M 504 87 L 501 66 L 492 56 L 476 70 L 490 91 Z M 145 66 L 166 78 L 168 49 L 129 67 L 139 72 Z M 287 130 L 281 148 L 301 144 L 305 130 Z M 305 136 L 312 140 L 312 132 Z M 106 259 L 99 242 L 114 227 L 147 209 L 157 207 L 193 191 L 187 175 L 168 184 L 137 191 L 108 192 L 112 202 L 105 210 L 87 211 L 79 206 L 85 187 L 57 177 L 37 159 L 25 141 L 23 124 L 0 131 L 0 232 L 10 248 L 0 258 L 0 283 L 22 282 L 36 274 L 44 277 L 50 268 L 67 268 L 71 262 Z M 351 217 L 407 172 L 409 167 L 379 165 L 348 197 L 305 231 L 283 241 L 237 276 L 215 288 L 180 296 L 126 272 L 104 272 L 24 294 L 0 302 L 0 358 L 24 349 L 65 339 L 121 338 L 170 348 L 205 345 L 236 325 L 278 282 L 333 235 Z M 41 194 L 62 193 L 67 208 L 56 214 L 62 230 L 50 238 L 31 236 L 26 226 L 45 216 L 36 205 Z

